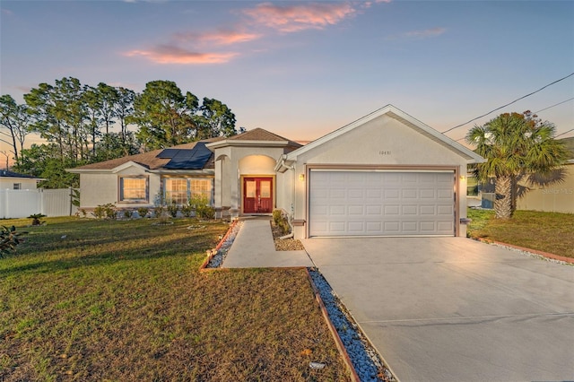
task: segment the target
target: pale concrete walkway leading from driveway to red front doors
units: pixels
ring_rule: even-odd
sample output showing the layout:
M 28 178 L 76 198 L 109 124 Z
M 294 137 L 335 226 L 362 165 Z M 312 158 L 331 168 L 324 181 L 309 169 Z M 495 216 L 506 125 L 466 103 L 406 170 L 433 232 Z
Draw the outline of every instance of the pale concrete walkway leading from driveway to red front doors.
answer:
M 276 251 L 268 217 L 246 218 L 222 268 L 288 268 L 314 266 L 304 250 Z

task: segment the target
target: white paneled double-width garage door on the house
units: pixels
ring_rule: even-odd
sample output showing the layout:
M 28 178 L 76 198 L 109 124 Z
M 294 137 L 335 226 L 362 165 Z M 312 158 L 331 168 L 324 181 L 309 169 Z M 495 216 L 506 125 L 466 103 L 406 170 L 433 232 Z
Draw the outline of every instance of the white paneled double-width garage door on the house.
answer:
M 454 171 L 311 169 L 309 236 L 452 236 L 454 181 Z

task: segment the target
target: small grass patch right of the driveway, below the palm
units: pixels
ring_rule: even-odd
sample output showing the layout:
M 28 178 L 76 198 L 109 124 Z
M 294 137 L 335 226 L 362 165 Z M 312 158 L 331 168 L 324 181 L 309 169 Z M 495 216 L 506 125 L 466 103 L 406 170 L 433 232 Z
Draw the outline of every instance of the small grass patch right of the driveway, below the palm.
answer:
M 509 220 L 494 219 L 494 211 L 468 210 L 472 238 L 490 239 L 519 247 L 574 258 L 574 214 L 517 211 Z

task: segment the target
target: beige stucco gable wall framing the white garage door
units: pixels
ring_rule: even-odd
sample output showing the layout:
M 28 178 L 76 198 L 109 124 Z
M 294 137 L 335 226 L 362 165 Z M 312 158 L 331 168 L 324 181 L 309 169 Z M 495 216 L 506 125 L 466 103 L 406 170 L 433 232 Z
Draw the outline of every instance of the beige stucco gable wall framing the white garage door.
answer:
M 285 190 L 286 195 L 281 199 L 281 208 L 289 211 L 288 201 L 295 201 L 295 220 L 306 220 L 307 200 L 306 190 L 309 187 L 306 166 L 312 165 L 369 165 L 381 168 L 410 166 L 423 168 L 429 166 L 448 166 L 458 170 L 459 175 L 466 175 L 466 161 L 457 152 L 449 150 L 440 143 L 432 141 L 429 137 L 403 125 L 394 118 L 386 115 L 377 117 L 364 125 L 357 126 L 350 132 L 337 136 L 308 152 L 297 157 L 294 169 L 294 187 Z M 292 170 L 287 170 L 289 177 Z M 300 175 L 304 179 L 300 180 Z M 458 214 L 460 218 L 466 217 L 466 182 L 465 178 L 458 178 Z M 290 195 L 294 192 L 293 197 Z M 279 206 L 279 205 L 278 205 Z M 295 228 L 295 237 L 304 238 L 306 226 Z M 459 224 L 458 235 L 466 235 L 466 226 Z

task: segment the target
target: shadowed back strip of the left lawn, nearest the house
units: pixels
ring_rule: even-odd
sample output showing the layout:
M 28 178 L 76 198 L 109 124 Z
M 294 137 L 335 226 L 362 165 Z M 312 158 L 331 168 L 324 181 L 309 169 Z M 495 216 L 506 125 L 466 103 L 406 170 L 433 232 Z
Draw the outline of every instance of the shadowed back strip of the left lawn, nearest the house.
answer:
M 199 266 L 205 251 L 216 245 L 219 236 L 218 230 L 187 230 L 181 224 L 155 228 L 151 234 L 149 228 L 137 231 L 138 226 L 110 223 L 107 228 L 113 230 L 111 234 L 100 234 L 100 225 L 91 227 L 91 233 L 73 229 L 37 231 L 38 236 L 28 240 L 29 246 L 0 261 L 0 276 L 190 255 L 198 256 Z M 174 234 L 174 230 L 179 233 Z M 69 233 L 63 233 L 66 231 Z

